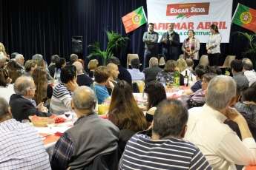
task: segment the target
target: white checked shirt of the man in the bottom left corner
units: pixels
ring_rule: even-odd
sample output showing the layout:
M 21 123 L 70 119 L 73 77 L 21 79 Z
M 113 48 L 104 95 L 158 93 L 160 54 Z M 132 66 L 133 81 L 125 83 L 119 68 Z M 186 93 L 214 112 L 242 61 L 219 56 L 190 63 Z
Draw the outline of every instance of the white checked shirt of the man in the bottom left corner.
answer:
M 0 123 L 0 169 L 50 169 L 36 129 L 15 119 Z

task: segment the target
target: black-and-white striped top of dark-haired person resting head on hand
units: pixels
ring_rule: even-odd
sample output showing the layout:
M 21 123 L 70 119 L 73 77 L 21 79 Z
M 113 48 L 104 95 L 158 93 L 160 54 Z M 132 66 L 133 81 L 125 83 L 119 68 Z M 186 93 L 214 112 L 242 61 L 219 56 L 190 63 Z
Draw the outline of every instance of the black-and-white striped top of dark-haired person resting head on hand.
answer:
M 61 115 L 71 111 L 71 92 L 60 83 L 53 88 L 53 96 L 50 100 L 50 113 Z

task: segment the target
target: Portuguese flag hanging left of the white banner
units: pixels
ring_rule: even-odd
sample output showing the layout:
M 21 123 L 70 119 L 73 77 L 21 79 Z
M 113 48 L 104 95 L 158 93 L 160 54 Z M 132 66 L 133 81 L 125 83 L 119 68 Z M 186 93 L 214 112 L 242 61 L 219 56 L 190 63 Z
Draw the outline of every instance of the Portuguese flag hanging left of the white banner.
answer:
M 143 7 L 139 7 L 133 12 L 128 13 L 122 17 L 122 23 L 125 26 L 125 33 L 130 33 L 146 22 L 147 18 L 145 17 Z

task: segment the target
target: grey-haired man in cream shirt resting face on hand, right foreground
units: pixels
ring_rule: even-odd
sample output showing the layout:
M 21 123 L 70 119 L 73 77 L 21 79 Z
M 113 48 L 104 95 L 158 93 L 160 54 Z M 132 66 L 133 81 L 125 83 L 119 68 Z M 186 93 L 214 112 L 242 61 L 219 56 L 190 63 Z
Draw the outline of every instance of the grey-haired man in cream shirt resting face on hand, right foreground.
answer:
M 246 120 L 231 108 L 235 101 L 236 84 L 226 75 L 211 79 L 206 90 L 206 104 L 190 109 L 186 140 L 206 155 L 212 168 L 236 169 L 237 165 L 256 163 L 256 143 Z M 239 126 L 242 140 L 223 122 L 233 120 Z

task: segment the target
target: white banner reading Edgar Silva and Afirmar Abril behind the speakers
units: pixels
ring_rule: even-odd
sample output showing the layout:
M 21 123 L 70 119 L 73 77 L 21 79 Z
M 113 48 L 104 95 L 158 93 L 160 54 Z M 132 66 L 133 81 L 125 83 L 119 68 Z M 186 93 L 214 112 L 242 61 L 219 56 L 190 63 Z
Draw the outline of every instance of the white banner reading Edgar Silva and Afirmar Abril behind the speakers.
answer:
M 195 37 L 206 43 L 210 25 L 217 24 L 222 43 L 229 43 L 233 0 L 147 0 L 148 23 L 154 23 L 154 31 L 160 37 L 174 23 L 174 31 L 180 34 L 180 42 L 194 30 Z

